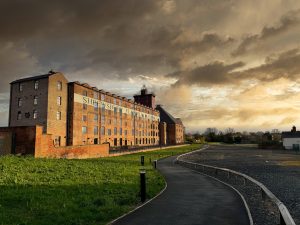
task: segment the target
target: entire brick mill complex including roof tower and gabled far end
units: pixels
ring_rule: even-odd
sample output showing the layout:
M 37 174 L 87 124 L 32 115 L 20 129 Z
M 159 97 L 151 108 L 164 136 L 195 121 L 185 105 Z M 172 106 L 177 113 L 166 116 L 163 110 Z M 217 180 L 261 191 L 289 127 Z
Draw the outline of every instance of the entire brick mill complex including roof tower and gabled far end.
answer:
M 22 131 L 26 127 L 32 130 L 26 134 L 32 139 L 31 147 L 24 145 L 28 137 Z M 183 132 L 181 120 L 173 118 L 161 106 L 156 107 L 155 95 L 148 93 L 146 87 L 131 100 L 86 83 L 68 82 L 62 73 L 50 71 L 11 82 L 9 127 L 0 129 L 0 142 L 3 146 L 20 142 L 12 144 L 16 150 L 12 153 L 33 153 L 34 148 L 38 149 L 36 146 L 47 145 L 48 139 L 49 154 L 55 153 L 53 148 L 87 145 L 98 145 L 95 149 L 103 152 L 102 144 L 110 147 L 180 144 Z M 3 141 L 9 137 L 13 141 Z M 41 154 L 35 152 L 35 155 Z

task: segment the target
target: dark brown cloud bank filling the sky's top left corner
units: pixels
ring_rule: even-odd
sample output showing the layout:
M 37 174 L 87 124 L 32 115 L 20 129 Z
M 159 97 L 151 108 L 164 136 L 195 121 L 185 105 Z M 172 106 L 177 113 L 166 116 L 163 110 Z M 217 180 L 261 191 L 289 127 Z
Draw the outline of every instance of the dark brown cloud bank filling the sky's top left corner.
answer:
M 33 35 L 89 35 L 102 26 L 136 20 L 157 9 L 154 1 L 12 0 L 0 2 L 1 38 Z

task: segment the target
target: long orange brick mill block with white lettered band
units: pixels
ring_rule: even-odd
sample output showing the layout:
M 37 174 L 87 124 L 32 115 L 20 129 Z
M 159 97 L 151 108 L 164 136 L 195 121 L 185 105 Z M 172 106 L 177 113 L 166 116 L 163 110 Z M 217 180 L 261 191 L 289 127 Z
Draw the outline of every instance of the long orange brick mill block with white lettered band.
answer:
M 79 82 L 69 83 L 69 145 L 158 145 L 159 112 L 154 108 Z

